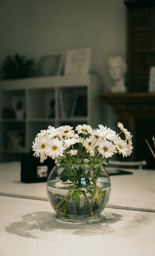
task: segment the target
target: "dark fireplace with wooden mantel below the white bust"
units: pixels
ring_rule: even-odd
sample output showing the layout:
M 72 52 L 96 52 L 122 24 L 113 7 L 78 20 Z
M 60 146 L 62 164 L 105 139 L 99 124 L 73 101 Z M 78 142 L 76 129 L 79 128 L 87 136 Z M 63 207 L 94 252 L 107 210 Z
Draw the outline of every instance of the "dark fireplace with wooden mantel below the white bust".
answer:
M 152 135 L 155 136 L 155 92 L 104 93 L 100 97 L 113 107 L 117 121 L 133 135 L 133 153 L 124 160 L 146 160 L 146 168 L 154 169 L 155 159 L 145 138 L 155 152 L 152 140 Z

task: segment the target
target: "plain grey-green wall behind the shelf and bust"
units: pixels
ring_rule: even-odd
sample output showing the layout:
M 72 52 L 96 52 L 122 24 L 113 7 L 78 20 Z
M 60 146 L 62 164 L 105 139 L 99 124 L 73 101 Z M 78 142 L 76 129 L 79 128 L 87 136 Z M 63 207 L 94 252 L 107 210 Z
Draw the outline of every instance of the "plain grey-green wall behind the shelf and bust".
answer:
M 107 91 L 110 55 L 126 58 L 123 0 L 0 0 L 0 67 L 7 55 L 41 56 L 92 47 L 93 70 Z

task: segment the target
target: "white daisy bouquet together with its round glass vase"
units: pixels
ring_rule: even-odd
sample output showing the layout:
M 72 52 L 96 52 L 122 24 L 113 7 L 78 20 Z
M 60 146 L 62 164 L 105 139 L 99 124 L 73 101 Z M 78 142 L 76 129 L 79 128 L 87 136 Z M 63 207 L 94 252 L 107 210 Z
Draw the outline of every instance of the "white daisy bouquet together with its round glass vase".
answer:
M 55 160 L 55 169 L 47 180 L 47 195 L 63 218 L 95 216 L 106 207 L 111 185 L 105 169 L 103 173 L 103 164 L 108 164 L 108 158 L 114 154 L 130 155 L 133 149 L 131 133 L 121 123 L 117 126 L 119 134 L 107 126 L 92 129 L 86 124 L 76 126 L 75 130 L 67 125 L 48 126 L 37 134 L 32 146 L 34 156 L 41 163 L 47 157 Z M 54 196 L 55 188 L 60 188 L 61 196 Z

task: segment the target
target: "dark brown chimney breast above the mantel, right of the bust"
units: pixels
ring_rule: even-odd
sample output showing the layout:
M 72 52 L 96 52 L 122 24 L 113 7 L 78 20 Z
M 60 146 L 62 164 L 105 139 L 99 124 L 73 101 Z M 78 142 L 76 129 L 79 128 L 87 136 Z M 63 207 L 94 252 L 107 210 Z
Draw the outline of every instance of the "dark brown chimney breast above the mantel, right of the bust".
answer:
M 124 1 L 127 7 L 127 85 L 129 92 L 148 92 L 155 66 L 155 1 Z

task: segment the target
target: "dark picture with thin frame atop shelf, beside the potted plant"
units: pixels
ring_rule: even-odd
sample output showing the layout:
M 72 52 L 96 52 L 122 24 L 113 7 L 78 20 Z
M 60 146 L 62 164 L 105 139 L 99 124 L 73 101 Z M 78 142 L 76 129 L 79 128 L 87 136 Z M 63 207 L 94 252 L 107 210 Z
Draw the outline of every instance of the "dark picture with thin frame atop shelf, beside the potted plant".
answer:
M 61 75 L 63 69 L 63 58 L 61 54 L 42 56 L 36 69 L 36 76 Z

